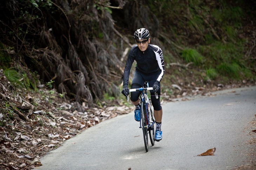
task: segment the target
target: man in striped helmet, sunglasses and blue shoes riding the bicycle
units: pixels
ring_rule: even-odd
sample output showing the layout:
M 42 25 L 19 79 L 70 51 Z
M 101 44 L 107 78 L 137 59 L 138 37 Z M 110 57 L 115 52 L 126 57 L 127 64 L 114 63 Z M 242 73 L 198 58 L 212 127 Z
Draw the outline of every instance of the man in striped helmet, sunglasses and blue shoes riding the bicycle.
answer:
M 134 60 L 137 62 L 134 77 L 132 80 L 132 89 L 141 88 L 145 81 L 148 81 L 149 87 L 153 87 L 150 90 L 151 102 L 154 107 L 154 117 L 156 120 L 156 134 L 155 140 L 160 141 L 162 139 L 161 123 L 162 123 L 162 106 L 160 104 L 161 86 L 160 81 L 164 75 L 164 61 L 162 50 L 157 45 L 151 45 L 149 38 L 149 31 L 145 28 L 137 29 L 134 33 L 134 39 L 136 41 L 135 46 L 132 47 L 128 54 L 126 66 L 123 73 L 123 90 L 124 96 L 129 95 L 128 81 L 130 75 L 130 69 Z M 155 97 L 155 92 L 159 96 Z M 140 121 L 140 101 L 139 91 L 131 92 L 131 102 L 135 105 L 134 118 L 136 121 Z

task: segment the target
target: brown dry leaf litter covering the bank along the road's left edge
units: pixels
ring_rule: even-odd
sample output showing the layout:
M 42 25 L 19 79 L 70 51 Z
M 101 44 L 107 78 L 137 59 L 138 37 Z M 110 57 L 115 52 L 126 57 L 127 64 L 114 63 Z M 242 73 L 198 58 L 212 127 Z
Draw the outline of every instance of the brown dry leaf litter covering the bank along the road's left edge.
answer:
M 76 103 L 67 103 L 58 97 L 57 92 L 53 94 L 55 98 L 52 103 L 32 92 L 23 96 L 15 95 L 2 71 L 0 77 L 0 87 L 5 87 L 0 88 L 0 106 L 12 103 L 12 106 L 20 108 L 19 112 L 10 109 L 9 113 L 0 113 L 0 169 L 20 170 L 41 166 L 40 158 L 60 147 L 63 141 L 133 109 L 121 103 L 117 103 L 119 107 L 106 104 L 102 108 L 89 108 L 84 103 L 83 109 L 86 111 L 80 112 L 76 109 Z M 47 93 L 48 90 L 40 91 Z M 32 105 L 35 101 L 39 103 L 38 107 Z M 26 110 L 22 110 L 24 108 Z

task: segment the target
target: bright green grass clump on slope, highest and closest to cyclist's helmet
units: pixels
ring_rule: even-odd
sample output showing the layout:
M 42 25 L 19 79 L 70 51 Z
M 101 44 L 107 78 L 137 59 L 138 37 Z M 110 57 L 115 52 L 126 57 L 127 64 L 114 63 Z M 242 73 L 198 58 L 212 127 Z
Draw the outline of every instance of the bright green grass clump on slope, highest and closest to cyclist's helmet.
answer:
M 193 62 L 196 66 L 201 65 L 203 61 L 203 56 L 194 49 L 183 50 L 181 56 L 186 62 Z

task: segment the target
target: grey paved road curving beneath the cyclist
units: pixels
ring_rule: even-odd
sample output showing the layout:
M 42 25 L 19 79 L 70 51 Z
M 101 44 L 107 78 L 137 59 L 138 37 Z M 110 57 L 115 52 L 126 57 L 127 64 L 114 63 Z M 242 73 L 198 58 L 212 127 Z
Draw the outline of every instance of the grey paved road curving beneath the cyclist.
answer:
M 234 92 L 235 90 L 235 92 Z M 223 170 L 246 162 L 256 87 L 163 104 L 163 139 L 146 153 L 134 113 L 90 127 L 41 158 L 40 170 Z M 216 147 L 214 156 L 196 156 Z

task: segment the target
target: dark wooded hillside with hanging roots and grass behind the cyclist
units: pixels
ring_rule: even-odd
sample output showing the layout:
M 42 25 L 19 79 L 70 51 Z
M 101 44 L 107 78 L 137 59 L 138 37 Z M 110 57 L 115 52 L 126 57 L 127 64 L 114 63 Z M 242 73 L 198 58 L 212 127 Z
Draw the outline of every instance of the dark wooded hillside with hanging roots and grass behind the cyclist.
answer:
M 16 89 L 40 84 L 79 105 L 117 98 L 138 28 L 163 50 L 171 84 L 254 82 L 254 0 L 1 0 L 0 67 Z

